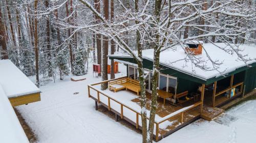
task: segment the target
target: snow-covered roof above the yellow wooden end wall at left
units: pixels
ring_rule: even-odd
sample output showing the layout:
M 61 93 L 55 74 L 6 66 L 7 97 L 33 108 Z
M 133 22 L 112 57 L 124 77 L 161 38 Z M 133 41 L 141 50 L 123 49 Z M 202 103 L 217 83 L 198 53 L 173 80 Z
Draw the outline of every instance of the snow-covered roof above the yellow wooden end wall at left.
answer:
M 0 85 L 8 98 L 40 92 L 10 60 L 0 60 L 0 69 Z

